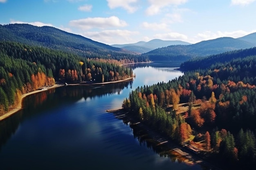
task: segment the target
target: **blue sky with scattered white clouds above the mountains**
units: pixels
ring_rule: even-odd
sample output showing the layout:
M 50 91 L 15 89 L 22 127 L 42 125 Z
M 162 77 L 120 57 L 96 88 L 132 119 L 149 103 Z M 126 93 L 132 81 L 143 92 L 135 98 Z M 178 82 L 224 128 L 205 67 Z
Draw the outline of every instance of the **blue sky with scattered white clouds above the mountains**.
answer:
M 54 26 L 104 44 L 192 44 L 256 32 L 256 0 L 0 0 L 0 24 Z

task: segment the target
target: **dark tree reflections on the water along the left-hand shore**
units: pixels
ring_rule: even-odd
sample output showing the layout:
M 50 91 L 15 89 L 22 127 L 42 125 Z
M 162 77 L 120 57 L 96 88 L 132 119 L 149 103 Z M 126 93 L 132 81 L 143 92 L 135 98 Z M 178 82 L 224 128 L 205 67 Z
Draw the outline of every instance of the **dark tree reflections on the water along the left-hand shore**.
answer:
M 57 106 L 65 106 L 74 103 L 83 97 L 101 97 L 120 93 L 124 88 L 132 86 L 132 81 L 106 84 L 103 86 L 66 86 L 41 91 L 25 97 L 22 101 L 22 110 L 11 117 L 0 121 L 0 149 L 8 139 L 16 132 L 19 124 L 25 119 L 45 113 Z

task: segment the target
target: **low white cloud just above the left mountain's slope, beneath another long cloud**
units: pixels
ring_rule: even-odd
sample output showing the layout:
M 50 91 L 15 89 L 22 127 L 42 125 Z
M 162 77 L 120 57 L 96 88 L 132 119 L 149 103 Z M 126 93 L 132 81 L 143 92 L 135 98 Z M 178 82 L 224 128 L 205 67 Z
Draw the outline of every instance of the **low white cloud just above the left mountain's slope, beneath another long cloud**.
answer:
M 94 41 L 102 42 L 105 44 L 126 44 L 130 42 L 136 42 L 132 37 L 139 35 L 137 31 L 128 31 L 128 30 L 104 30 L 104 31 L 95 31 L 95 32 L 84 32 L 81 33 L 86 38 L 90 38 Z

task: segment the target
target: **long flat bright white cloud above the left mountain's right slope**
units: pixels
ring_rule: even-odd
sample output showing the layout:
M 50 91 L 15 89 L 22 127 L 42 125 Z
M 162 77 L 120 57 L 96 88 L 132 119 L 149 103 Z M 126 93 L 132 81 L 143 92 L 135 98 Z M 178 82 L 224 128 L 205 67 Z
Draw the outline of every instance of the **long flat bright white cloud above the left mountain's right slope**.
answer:
M 111 16 L 109 18 L 85 18 L 80 20 L 72 20 L 69 22 L 70 26 L 78 27 L 80 29 L 92 29 L 100 28 L 105 29 L 107 27 L 123 27 L 127 26 L 127 23 L 120 20 L 116 16 Z

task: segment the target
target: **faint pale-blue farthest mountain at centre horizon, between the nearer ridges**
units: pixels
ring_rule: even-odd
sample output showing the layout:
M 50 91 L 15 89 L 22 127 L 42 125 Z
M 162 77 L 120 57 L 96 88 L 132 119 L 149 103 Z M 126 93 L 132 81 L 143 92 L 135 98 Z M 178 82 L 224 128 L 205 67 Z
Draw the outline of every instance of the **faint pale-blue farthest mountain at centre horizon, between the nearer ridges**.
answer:
M 154 39 L 150 40 L 149 42 L 145 41 L 139 41 L 134 44 L 113 44 L 111 46 L 126 49 L 128 51 L 134 51 L 137 53 L 147 53 L 149 51 L 152 51 L 154 49 L 158 49 L 161 47 L 166 47 L 170 45 L 189 45 L 191 43 L 189 42 L 184 42 L 184 41 L 179 41 L 179 40 L 159 40 L 159 39 Z

